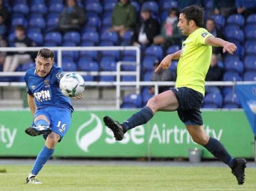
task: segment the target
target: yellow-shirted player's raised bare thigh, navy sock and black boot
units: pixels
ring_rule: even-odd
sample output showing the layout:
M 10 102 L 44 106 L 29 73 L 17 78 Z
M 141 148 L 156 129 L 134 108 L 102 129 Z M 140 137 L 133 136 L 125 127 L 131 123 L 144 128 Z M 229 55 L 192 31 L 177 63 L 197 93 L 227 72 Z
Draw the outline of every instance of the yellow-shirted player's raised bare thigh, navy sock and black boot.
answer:
M 147 123 L 157 111 L 175 111 L 177 108 L 176 95 L 173 90 L 168 90 L 150 98 L 146 107 L 134 113 L 122 124 L 114 121 L 109 116 L 105 116 L 103 120 L 105 125 L 113 131 L 116 140 L 122 140 L 126 131 Z

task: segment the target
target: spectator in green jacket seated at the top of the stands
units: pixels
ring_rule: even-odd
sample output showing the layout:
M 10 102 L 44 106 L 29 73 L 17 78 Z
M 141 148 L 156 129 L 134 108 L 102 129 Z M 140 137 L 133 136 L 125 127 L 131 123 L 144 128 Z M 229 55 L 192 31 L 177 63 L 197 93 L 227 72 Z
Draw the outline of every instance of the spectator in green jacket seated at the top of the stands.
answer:
M 136 9 L 129 0 L 120 0 L 112 12 L 111 31 L 116 31 L 121 37 L 127 30 L 136 26 Z

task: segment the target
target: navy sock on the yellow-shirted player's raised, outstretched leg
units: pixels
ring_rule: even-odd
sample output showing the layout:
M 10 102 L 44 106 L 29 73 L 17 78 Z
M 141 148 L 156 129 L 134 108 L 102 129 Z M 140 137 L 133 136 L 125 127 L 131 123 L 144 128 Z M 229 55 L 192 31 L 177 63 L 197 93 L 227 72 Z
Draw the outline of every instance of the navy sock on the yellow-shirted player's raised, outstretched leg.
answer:
M 129 129 L 147 123 L 147 121 L 149 121 L 153 115 L 154 113 L 149 107 L 144 107 L 137 113 L 134 113 L 128 120 L 123 122 L 122 126 L 124 127 L 125 131 L 128 131 Z

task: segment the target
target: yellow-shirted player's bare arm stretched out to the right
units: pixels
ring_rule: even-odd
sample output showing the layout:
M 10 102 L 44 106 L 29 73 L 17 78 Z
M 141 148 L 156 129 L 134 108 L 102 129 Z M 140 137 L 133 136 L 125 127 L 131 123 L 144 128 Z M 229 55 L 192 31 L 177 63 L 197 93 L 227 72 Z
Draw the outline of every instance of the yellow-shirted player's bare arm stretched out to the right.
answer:
M 237 47 L 235 46 L 234 43 L 225 41 L 221 38 L 215 38 L 213 36 L 207 37 L 205 39 L 205 44 L 206 45 L 211 45 L 211 46 L 222 46 L 223 47 L 223 53 L 228 52 L 229 54 L 233 54 Z

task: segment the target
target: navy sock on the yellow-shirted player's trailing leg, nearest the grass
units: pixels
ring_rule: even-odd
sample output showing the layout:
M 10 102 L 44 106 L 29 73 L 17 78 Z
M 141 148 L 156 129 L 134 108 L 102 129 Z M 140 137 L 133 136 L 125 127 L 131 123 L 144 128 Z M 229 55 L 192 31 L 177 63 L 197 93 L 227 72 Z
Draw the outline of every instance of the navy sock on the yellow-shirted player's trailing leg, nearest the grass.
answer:
M 210 137 L 209 142 L 204 147 L 210 151 L 213 156 L 229 165 L 230 168 L 234 166 L 235 159 L 228 154 L 227 150 L 217 139 Z

